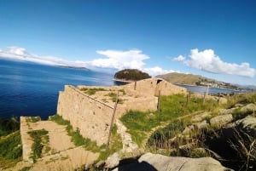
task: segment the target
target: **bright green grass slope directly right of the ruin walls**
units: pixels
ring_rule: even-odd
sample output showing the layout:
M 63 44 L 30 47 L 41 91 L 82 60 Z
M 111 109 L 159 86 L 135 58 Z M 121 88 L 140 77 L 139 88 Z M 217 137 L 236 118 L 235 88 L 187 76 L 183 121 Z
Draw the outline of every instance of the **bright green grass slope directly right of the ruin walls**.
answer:
M 150 115 L 149 111 L 128 111 L 120 120 L 128 128 L 132 140 L 141 145 L 146 133 L 162 122 L 172 121 L 195 111 L 213 111 L 216 108 L 218 108 L 217 101 L 206 100 L 203 105 L 202 99 L 190 98 L 187 105 L 187 99 L 183 94 L 174 94 L 160 97 L 160 113 L 154 111 L 151 112 L 153 115 Z

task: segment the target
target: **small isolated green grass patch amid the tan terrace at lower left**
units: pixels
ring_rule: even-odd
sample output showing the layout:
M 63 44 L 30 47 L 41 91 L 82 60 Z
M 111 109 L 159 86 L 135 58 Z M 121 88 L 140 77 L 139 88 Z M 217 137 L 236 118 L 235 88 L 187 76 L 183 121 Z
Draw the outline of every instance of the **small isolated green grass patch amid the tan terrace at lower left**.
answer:
M 41 157 L 44 145 L 49 142 L 49 138 L 45 138 L 48 136 L 48 131 L 46 131 L 45 129 L 40 129 L 40 130 L 30 131 L 28 132 L 28 134 L 33 139 L 32 159 L 33 159 L 33 162 L 36 162 L 36 160 Z

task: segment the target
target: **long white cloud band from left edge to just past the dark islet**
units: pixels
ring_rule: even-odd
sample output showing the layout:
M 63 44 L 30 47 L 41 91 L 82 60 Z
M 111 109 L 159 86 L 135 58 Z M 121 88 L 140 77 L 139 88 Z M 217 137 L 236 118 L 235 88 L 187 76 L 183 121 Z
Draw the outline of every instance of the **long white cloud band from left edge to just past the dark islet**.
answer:
M 172 70 L 164 70 L 160 66 L 151 68 L 145 67 L 145 60 L 150 59 L 147 54 L 139 49 L 121 50 L 97 50 L 96 54 L 101 54 L 102 58 L 91 61 L 85 60 L 64 60 L 55 56 L 39 56 L 38 54 L 30 54 L 26 48 L 11 46 L 8 50 L 0 49 L 0 57 L 11 60 L 25 60 L 36 62 L 50 66 L 83 66 L 94 69 L 108 68 L 115 70 L 122 69 L 138 69 L 148 72 L 151 76 L 173 72 Z

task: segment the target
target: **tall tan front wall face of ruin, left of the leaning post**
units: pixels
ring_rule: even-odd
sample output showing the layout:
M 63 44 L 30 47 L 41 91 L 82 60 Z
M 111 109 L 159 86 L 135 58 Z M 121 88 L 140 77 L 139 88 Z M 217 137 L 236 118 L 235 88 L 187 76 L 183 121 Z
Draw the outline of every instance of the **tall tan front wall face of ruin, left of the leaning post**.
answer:
M 106 144 L 113 114 L 113 106 L 90 98 L 72 86 L 65 86 L 60 92 L 57 113 L 70 121 L 73 128 L 97 145 Z

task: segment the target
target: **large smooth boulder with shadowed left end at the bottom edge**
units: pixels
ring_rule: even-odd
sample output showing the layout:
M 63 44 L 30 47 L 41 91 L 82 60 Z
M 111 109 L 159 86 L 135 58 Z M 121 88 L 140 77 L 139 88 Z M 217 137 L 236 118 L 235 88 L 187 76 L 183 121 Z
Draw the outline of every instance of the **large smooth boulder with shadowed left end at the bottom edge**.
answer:
M 115 171 L 231 171 L 224 168 L 220 162 L 212 157 L 188 158 L 166 157 L 160 154 L 146 153 L 136 162 L 125 164 L 114 169 Z

